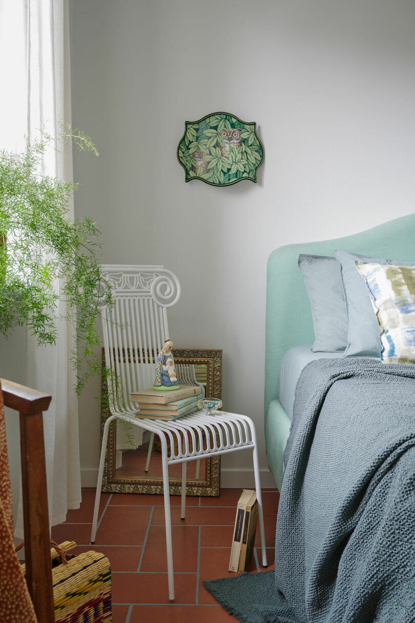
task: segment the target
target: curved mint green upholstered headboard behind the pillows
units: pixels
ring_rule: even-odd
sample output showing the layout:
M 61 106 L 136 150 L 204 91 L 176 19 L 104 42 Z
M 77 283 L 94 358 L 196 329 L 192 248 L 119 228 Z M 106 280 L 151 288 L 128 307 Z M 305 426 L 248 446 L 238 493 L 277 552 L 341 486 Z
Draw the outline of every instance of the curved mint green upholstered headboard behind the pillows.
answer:
M 290 244 L 271 253 L 266 287 L 265 425 L 269 403 L 278 397 L 278 371 L 284 353 L 291 346 L 314 342 L 310 303 L 297 265 L 298 256 L 334 255 L 337 249 L 415 262 L 415 214 L 345 238 Z

